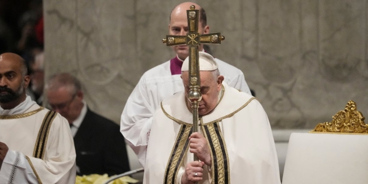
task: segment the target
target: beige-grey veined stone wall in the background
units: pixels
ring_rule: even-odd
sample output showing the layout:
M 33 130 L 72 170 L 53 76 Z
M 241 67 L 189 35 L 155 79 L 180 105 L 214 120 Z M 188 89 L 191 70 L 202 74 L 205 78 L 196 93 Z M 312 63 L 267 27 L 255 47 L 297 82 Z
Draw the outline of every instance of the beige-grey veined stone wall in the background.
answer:
M 181 0 L 46 0 L 46 75 L 70 72 L 88 105 L 120 121 L 135 84 L 175 54 L 161 43 Z M 349 100 L 368 116 L 366 0 L 195 1 L 215 56 L 241 69 L 273 129 L 310 129 Z

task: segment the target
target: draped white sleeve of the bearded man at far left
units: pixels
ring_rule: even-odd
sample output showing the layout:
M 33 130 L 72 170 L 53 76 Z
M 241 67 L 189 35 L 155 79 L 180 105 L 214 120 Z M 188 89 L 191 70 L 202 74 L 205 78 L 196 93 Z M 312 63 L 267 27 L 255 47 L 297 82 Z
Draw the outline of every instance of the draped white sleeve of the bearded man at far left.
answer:
M 42 159 L 9 150 L 0 170 L 0 183 L 74 184 L 75 160 L 76 152 L 68 122 L 57 114 L 47 136 Z

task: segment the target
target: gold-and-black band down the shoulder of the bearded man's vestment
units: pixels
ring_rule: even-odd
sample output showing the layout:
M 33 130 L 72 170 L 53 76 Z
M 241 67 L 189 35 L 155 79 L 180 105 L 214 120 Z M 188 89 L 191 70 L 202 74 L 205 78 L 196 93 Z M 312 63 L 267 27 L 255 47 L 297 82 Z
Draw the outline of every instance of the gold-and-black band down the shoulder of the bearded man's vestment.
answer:
M 56 114 L 57 112 L 55 111 L 49 111 L 48 113 L 46 113 L 45 118 L 42 121 L 41 128 L 38 131 L 36 143 L 33 150 L 33 157 L 40 159 L 44 157 L 50 127 L 53 123 L 53 119 L 56 117 Z

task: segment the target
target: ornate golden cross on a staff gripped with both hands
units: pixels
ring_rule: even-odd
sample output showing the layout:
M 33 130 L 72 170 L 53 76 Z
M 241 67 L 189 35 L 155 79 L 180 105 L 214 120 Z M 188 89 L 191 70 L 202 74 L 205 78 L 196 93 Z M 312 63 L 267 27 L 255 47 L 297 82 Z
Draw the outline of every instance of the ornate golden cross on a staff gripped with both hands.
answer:
M 199 10 L 195 10 L 194 5 L 190 5 L 190 10 L 186 10 L 188 20 L 188 33 L 185 36 L 166 35 L 166 39 L 162 39 L 162 43 L 166 46 L 184 45 L 189 47 L 189 94 L 188 100 L 193 110 L 193 132 L 198 131 L 198 107 L 202 100 L 200 91 L 201 80 L 199 76 L 198 62 L 198 46 L 200 44 L 221 44 L 221 40 L 225 37 L 219 32 L 211 34 L 198 33 Z M 198 161 L 194 155 L 194 160 Z

